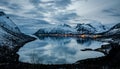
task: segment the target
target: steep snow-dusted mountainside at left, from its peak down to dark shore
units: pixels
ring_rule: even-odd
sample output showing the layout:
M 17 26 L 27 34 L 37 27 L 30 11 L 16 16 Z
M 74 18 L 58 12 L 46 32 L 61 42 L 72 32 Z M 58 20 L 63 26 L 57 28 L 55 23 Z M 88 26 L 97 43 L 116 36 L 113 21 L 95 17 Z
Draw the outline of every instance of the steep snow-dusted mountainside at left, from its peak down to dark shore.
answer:
M 35 38 L 23 34 L 4 12 L 0 12 L 0 62 L 16 61 L 14 55 L 19 48 L 32 40 Z

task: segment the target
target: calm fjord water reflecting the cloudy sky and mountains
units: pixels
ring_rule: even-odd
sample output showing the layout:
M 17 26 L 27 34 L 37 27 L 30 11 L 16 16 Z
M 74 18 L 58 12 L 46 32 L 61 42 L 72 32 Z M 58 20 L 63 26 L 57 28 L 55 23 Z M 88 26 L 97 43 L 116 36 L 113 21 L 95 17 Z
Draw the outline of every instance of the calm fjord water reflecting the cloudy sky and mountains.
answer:
M 18 52 L 19 61 L 33 64 L 68 64 L 104 54 L 95 51 L 81 51 L 85 48 L 99 48 L 102 42 L 82 38 L 40 38 L 24 45 Z

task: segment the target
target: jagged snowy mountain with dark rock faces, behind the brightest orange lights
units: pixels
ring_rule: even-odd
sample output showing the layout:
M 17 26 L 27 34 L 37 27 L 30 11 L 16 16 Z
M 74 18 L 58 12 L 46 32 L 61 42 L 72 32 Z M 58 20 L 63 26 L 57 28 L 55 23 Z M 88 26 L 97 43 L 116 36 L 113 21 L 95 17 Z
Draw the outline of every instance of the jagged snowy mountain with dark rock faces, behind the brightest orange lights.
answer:
M 92 22 L 87 24 L 77 24 L 75 28 L 78 33 L 82 34 L 95 34 L 105 32 L 107 27 L 102 25 L 100 22 Z

